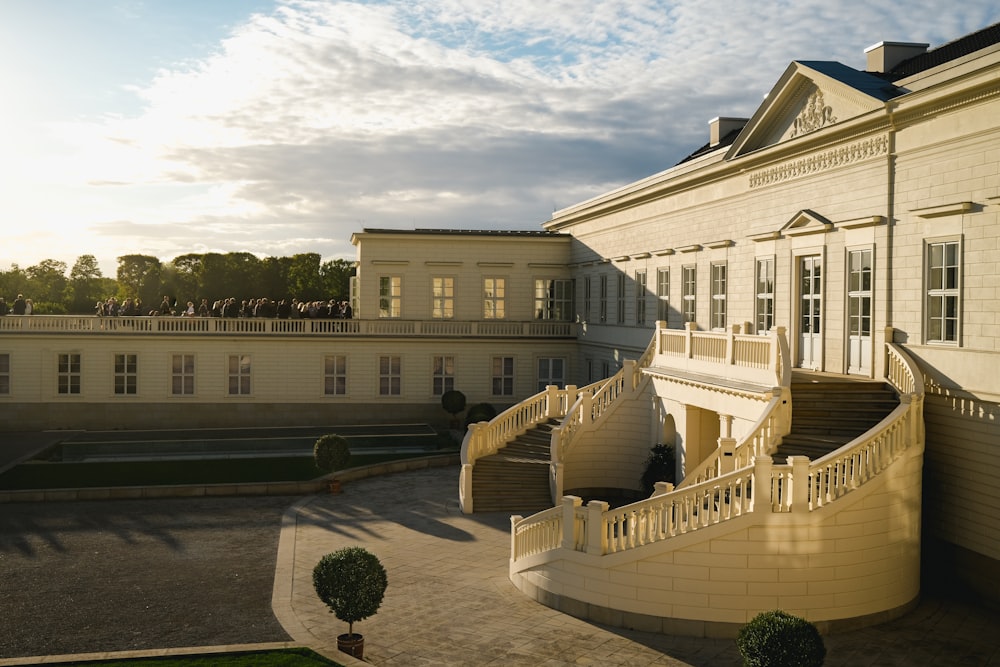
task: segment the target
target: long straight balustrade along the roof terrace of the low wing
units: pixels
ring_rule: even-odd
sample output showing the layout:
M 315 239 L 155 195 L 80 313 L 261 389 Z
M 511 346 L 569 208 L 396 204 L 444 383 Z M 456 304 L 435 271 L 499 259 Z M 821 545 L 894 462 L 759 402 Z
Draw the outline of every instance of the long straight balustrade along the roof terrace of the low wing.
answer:
M 5 333 L 72 333 L 94 335 L 278 335 L 278 336 L 469 336 L 504 338 L 572 338 L 573 322 L 551 320 L 345 320 L 227 317 L 97 317 L 95 315 L 7 315 Z

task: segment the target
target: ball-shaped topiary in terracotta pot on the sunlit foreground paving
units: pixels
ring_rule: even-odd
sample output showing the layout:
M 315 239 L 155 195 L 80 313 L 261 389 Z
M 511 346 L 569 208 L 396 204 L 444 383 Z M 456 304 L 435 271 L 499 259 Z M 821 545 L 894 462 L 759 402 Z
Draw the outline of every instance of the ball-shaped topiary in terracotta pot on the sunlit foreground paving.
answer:
M 375 554 L 362 547 L 345 547 L 323 556 L 313 568 L 313 588 L 330 612 L 347 623 L 347 634 L 337 636 L 337 648 L 363 658 L 365 638 L 354 634 L 354 622 L 378 611 L 389 585 L 385 568 Z

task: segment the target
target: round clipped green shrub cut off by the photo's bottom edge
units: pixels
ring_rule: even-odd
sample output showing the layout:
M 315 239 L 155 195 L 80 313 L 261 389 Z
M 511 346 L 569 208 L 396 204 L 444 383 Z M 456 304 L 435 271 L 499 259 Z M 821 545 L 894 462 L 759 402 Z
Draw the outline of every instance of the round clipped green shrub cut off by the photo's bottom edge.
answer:
M 826 658 L 816 626 L 780 609 L 761 612 L 740 628 L 736 647 L 745 667 L 821 667 Z

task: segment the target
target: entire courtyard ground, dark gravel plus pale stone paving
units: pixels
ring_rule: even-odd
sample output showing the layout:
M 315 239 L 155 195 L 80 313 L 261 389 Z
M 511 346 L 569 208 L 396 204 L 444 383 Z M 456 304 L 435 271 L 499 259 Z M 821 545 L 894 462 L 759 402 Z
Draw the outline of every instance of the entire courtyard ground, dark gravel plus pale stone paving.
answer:
M 356 544 L 389 574 L 382 608 L 355 626 L 371 664 L 740 664 L 731 640 L 601 627 L 527 599 L 507 579 L 508 516 L 462 515 L 457 484 L 450 467 L 337 496 L 2 505 L 0 665 L 288 640 L 338 657 L 346 626 L 311 574 Z M 904 618 L 827 637 L 826 665 L 1000 665 L 997 628 L 997 610 L 931 593 Z

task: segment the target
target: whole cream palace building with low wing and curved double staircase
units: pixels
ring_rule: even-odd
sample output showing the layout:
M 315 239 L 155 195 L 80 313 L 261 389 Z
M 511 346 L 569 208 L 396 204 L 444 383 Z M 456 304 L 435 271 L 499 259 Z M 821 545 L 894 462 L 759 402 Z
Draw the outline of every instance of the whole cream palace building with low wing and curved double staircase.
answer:
M 836 630 L 922 567 L 1000 600 L 1000 24 L 866 54 L 542 230 L 356 233 L 350 320 L 3 318 L 3 427 L 444 425 L 458 389 L 501 410 L 461 507 L 514 514 L 543 604 Z

